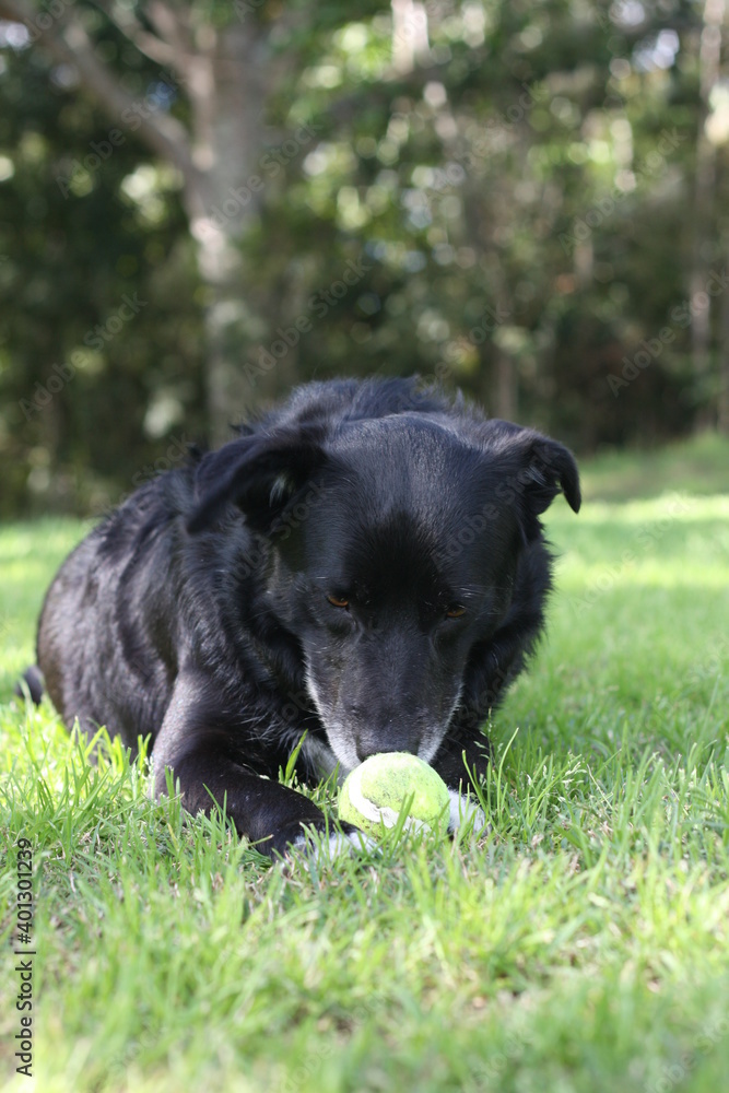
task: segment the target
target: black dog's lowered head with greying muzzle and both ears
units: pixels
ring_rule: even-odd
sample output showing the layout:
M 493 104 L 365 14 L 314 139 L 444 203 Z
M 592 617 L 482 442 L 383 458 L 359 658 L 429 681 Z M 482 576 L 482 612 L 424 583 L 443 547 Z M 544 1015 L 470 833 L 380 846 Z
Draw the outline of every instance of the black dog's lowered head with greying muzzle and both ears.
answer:
M 469 658 L 508 621 L 520 559 L 577 468 L 508 422 L 403 412 L 256 432 L 207 457 L 188 528 L 233 503 L 272 545 L 266 604 L 301 645 L 343 768 L 383 751 L 431 761 Z

